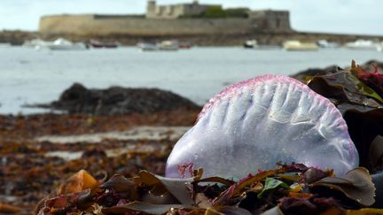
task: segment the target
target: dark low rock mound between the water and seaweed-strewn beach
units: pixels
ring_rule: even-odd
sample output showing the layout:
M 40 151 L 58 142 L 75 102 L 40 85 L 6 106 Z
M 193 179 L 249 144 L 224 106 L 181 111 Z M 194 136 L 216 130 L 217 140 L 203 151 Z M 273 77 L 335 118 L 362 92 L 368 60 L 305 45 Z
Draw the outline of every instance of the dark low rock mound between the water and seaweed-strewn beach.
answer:
M 49 108 L 69 113 L 92 115 L 122 115 L 154 113 L 176 109 L 197 110 L 190 100 L 158 88 L 88 89 L 80 83 L 67 88 Z

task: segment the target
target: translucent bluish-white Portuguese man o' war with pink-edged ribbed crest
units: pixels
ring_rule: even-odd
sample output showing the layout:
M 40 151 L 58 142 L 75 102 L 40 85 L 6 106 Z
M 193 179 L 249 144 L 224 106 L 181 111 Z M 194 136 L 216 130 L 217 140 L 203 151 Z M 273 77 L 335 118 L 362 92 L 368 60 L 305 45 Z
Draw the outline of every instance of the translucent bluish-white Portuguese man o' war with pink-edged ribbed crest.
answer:
M 340 111 L 300 81 L 262 75 L 223 89 L 199 113 L 194 127 L 168 157 L 166 176 L 178 166 L 202 167 L 203 176 L 241 179 L 301 163 L 347 173 L 359 163 Z

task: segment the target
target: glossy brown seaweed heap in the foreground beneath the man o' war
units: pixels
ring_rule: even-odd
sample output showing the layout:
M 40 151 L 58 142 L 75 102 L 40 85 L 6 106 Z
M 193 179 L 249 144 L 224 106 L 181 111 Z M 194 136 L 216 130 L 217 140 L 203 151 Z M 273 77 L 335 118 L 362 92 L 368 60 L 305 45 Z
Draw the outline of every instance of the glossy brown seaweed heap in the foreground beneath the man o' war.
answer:
M 304 168 L 296 168 L 297 165 L 278 165 L 277 169 L 221 186 L 216 186 L 217 178 L 203 179 L 201 169 L 187 179 L 166 179 L 140 171 L 133 178 L 113 175 L 100 184 L 93 183 L 90 174 L 82 170 L 60 186 L 75 190 L 72 187 L 77 180 L 83 185 L 82 190 L 46 199 L 36 211 L 37 214 L 84 211 L 87 214 L 258 214 L 270 213 L 268 210 L 275 211 L 278 207 L 277 211 L 285 214 L 303 211 L 321 214 L 331 210 L 356 211 L 374 203 L 375 187 L 364 168 L 356 168 L 341 177 L 334 176 L 332 171 L 315 169 L 321 177 L 312 177 L 309 182 L 308 175 L 313 173 L 308 172 L 312 168 L 303 165 L 299 166 Z M 284 177 L 291 175 L 296 177 Z M 216 191 L 213 196 L 211 189 Z M 329 190 L 339 195 L 326 196 Z

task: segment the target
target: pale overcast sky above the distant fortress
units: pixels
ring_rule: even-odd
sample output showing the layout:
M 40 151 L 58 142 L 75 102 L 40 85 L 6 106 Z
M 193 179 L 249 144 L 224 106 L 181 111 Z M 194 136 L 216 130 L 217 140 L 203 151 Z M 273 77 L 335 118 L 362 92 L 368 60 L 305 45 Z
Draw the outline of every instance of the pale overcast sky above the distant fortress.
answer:
M 158 0 L 158 4 L 191 0 Z M 299 31 L 383 35 L 383 0 L 200 0 L 223 7 L 290 11 Z M 0 0 L 0 29 L 37 30 L 41 16 L 61 13 L 144 13 L 145 0 Z

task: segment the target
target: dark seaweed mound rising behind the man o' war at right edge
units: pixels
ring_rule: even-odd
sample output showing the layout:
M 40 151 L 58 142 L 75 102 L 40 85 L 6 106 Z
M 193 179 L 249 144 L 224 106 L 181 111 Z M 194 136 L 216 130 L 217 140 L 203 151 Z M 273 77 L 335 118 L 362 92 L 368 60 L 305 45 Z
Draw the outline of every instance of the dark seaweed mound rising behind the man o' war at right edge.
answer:
M 372 142 L 383 135 L 382 73 L 364 71 L 352 61 L 351 67 L 335 73 L 314 76 L 308 83 L 318 94 L 329 98 L 343 114 L 348 133 L 359 152 L 360 165 L 372 172 L 381 170 L 379 150 L 372 151 Z M 383 142 L 379 139 L 375 142 Z M 375 143 L 374 146 L 379 144 Z

